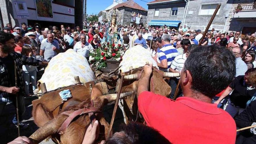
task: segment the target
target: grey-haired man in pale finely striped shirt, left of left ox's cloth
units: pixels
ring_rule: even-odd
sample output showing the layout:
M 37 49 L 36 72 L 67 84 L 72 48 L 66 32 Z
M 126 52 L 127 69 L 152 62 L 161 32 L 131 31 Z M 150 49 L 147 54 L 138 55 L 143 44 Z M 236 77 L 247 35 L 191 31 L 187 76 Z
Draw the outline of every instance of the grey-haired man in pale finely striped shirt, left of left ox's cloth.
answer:
M 40 47 L 40 56 L 44 56 L 45 61 L 50 61 L 51 58 L 56 56 L 60 52 L 58 42 L 54 41 L 54 37 L 51 33 L 47 33 L 47 40 L 42 41 Z

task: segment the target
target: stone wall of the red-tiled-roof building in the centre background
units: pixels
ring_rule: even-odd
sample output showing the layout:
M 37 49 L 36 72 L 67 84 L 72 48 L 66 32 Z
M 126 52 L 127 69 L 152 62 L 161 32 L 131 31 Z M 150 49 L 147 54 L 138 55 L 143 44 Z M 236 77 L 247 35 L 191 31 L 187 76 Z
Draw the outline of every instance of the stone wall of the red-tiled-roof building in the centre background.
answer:
M 133 9 L 133 8 L 119 8 L 118 10 L 120 10 L 121 13 L 121 24 L 122 25 L 130 25 L 131 24 L 131 13 L 132 12 L 138 12 L 142 14 L 141 17 L 141 21 L 140 23 L 142 23 L 144 26 L 146 25 L 147 22 L 147 11 L 143 11 L 143 10 L 138 10 L 138 9 Z

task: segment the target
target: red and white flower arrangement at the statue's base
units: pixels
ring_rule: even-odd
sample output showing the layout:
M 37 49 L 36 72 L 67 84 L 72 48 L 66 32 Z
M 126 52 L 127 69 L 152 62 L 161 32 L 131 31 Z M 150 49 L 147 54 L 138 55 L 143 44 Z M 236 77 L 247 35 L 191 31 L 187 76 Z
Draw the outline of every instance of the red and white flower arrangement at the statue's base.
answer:
M 97 70 L 106 67 L 107 60 L 121 61 L 126 48 L 123 44 L 110 44 L 102 42 L 97 49 L 90 51 L 89 63 L 94 65 Z

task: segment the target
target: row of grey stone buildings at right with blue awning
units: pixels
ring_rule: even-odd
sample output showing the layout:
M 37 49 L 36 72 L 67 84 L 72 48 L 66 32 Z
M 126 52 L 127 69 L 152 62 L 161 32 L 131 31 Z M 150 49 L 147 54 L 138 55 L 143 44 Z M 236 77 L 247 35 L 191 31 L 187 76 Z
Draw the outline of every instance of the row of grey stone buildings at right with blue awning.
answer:
M 147 3 L 147 24 L 158 21 L 159 25 L 180 22 L 191 29 L 205 30 L 216 6 L 221 4 L 209 29 L 216 31 L 255 31 L 256 6 L 253 0 L 155 0 Z M 243 10 L 234 13 L 241 5 Z M 254 26 L 255 27 L 255 26 Z M 243 30 L 244 29 L 244 30 Z M 250 30 L 249 30 L 250 29 Z

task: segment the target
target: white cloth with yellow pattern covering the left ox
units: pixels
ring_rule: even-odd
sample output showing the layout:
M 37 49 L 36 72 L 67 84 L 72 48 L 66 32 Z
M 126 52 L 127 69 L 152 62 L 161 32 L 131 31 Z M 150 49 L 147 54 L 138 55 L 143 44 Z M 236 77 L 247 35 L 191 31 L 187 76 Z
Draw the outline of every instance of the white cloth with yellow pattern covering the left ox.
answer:
M 68 49 L 51 59 L 38 82 L 45 83 L 47 91 L 50 91 L 76 83 L 75 76 L 79 76 L 81 83 L 95 78 L 86 58 Z

